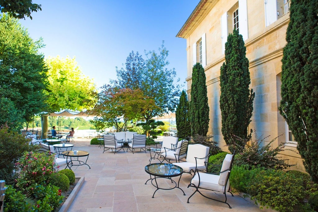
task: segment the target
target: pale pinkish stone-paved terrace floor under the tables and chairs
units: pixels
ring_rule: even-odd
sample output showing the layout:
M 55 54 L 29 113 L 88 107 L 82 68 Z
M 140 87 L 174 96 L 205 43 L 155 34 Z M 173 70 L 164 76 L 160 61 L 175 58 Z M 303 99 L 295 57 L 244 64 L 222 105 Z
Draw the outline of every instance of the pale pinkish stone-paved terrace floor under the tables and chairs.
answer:
M 76 177 L 85 177 L 85 182 L 76 195 L 69 212 L 92 211 L 264 211 L 246 201 L 238 194 L 228 195 L 228 203 L 209 200 L 196 193 L 187 203 L 193 188 L 187 188 L 191 175 L 183 173 L 180 187 L 172 190 L 158 190 L 148 181 L 149 174 L 144 171 L 149 164 L 150 154 L 145 152 L 103 152 L 103 148 L 90 145 L 90 139 L 75 139 L 73 150 L 89 152 L 87 164 L 91 166 L 73 166 Z M 159 161 L 152 160 L 153 163 Z M 65 167 L 65 166 L 64 166 Z M 61 168 L 64 168 L 61 167 Z M 178 179 L 178 177 L 176 177 Z M 169 187 L 169 180 L 162 182 Z M 224 194 L 210 192 L 214 198 L 224 199 Z

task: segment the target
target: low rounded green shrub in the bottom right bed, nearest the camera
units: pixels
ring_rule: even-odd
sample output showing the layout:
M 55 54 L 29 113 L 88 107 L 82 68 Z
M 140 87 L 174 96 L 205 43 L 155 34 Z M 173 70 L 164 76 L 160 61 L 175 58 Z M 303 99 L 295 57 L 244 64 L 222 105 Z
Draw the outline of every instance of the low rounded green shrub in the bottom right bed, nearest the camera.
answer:
M 302 179 L 293 173 L 270 169 L 259 172 L 247 187 L 251 199 L 261 207 L 268 206 L 282 212 L 293 211 L 302 205 L 310 190 L 304 188 Z

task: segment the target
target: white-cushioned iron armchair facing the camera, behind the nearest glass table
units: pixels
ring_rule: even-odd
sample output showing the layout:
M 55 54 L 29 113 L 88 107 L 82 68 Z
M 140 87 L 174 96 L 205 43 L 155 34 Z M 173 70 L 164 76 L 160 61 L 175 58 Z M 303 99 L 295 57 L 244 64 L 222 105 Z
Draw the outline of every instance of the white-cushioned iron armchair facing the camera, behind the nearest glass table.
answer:
M 205 170 L 205 162 L 209 160 L 210 148 L 201 144 L 188 146 L 186 162 L 173 163 L 173 165 L 183 168 L 183 172 L 194 173 L 196 169 Z

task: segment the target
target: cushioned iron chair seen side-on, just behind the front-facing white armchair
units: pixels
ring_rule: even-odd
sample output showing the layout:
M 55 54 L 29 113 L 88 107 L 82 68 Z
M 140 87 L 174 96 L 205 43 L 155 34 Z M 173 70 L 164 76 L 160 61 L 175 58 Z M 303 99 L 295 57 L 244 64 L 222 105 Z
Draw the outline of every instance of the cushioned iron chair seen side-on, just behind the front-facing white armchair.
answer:
M 177 143 L 175 151 L 164 148 L 165 152 L 161 153 L 160 157 L 164 157 L 163 160 L 166 160 L 168 163 L 170 163 L 171 159 L 180 162 L 181 159 L 187 157 L 188 144 L 188 140 L 181 140 Z

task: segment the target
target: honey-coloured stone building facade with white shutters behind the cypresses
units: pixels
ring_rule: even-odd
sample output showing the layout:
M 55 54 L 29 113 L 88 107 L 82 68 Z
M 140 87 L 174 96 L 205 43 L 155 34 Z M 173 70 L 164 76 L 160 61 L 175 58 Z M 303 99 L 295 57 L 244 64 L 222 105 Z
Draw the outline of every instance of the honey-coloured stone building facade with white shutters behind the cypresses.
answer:
M 210 125 L 208 134 L 224 147 L 221 132 L 220 67 L 225 62 L 225 42 L 233 29 L 243 36 L 249 60 L 250 87 L 255 92 L 250 129 L 264 144 L 278 137 L 273 147 L 284 143 L 280 155 L 304 170 L 297 143 L 280 115 L 281 59 L 286 45 L 290 0 L 201 0 L 176 37 L 187 40 L 187 93 L 190 100 L 192 67 L 205 70 Z M 266 138 L 267 136 L 270 136 Z

